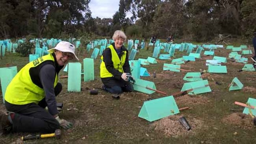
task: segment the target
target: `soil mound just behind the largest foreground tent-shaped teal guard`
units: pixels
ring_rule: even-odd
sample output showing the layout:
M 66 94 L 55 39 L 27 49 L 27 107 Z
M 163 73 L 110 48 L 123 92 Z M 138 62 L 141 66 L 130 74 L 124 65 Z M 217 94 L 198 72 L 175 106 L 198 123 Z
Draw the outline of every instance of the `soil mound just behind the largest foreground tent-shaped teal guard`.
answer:
M 207 97 L 204 96 L 194 96 L 194 95 L 183 95 L 175 98 L 176 103 L 179 104 L 184 104 L 184 105 L 191 105 L 191 104 L 205 104 L 208 103 L 209 100 Z

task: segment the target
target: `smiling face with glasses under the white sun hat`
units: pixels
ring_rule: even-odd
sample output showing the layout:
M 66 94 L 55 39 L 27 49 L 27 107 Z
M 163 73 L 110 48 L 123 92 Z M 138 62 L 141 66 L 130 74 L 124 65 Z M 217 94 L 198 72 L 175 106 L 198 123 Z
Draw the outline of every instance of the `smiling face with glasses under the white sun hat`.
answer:
M 73 54 L 69 52 L 62 52 L 56 50 L 54 53 L 56 55 L 56 61 L 59 64 L 59 66 L 64 66 L 69 62 L 69 60 L 73 59 Z

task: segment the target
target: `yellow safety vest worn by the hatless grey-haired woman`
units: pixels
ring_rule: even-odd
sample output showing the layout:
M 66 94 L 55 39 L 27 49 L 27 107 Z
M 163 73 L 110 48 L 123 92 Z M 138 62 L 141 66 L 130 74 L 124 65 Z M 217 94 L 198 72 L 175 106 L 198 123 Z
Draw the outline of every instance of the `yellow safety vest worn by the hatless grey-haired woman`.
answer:
M 117 69 L 119 72 L 123 73 L 124 72 L 123 66 L 124 66 L 124 62 L 125 62 L 125 58 L 126 58 L 126 51 L 123 51 L 123 55 L 121 56 L 121 60 L 120 60 L 113 45 L 110 45 L 108 48 L 111 50 L 112 62 L 113 62 L 114 68 Z M 100 66 L 101 78 L 113 77 L 113 75 L 107 70 L 107 68 L 105 66 L 105 62 L 103 62 L 103 55 L 101 56 L 101 60 L 102 60 L 101 66 Z

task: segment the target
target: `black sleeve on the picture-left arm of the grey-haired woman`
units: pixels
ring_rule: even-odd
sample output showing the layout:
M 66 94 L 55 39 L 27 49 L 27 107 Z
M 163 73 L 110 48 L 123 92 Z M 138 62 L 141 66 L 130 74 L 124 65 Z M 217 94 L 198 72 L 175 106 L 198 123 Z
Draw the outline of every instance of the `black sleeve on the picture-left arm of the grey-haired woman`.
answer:
M 106 48 L 103 51 L 102 55 L 103 55 L 103 62 L 105 63 L 107 71 L 109 71 L 116 79 L 120 80 L 122 76 L 122 72 L 119 72 L 117 69 L 114 68 L 110 48 Z

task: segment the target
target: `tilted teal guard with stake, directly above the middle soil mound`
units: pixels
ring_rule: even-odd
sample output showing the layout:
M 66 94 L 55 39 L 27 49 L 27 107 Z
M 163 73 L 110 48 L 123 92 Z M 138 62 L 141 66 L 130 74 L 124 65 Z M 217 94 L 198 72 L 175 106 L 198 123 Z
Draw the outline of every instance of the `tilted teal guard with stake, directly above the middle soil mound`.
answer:
M 202 81 L 194 81 L 194 82 L 187 82 L 183 85 L 181 91 L 189 91 L 189 94 L 202 94 L 202 93 L 208 93 L 211 92 L 211 88 L 209 86 L 208 80 L 202 80 Z

